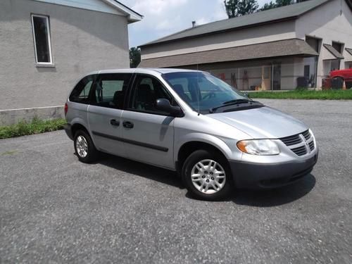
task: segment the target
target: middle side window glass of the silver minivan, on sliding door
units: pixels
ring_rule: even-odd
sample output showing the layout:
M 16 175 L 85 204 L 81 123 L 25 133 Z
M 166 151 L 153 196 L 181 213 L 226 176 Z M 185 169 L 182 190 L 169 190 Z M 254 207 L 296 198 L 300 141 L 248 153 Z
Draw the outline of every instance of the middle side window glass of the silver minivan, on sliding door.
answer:
M 132 73 L 108 73 L 99 75 L 94 82 L 92 103 L 96 106 L 121 109 Z

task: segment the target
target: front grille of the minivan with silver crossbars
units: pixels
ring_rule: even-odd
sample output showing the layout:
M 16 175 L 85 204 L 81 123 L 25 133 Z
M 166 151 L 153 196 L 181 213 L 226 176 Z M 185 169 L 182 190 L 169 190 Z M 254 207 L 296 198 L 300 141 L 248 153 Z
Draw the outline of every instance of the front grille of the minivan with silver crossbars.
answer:
M 315 149 L 313 135 L 309 130 L 280 139 L 297 156 L 304 156 Z

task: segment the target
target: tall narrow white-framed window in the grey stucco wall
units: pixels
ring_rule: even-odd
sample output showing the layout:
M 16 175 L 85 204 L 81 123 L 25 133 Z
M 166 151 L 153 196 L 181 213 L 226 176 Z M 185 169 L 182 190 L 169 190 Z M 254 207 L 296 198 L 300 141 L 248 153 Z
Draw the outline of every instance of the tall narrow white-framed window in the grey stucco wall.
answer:
M 38 65 L 52 65 L 49 17 L 32 15 L 35 61 Z

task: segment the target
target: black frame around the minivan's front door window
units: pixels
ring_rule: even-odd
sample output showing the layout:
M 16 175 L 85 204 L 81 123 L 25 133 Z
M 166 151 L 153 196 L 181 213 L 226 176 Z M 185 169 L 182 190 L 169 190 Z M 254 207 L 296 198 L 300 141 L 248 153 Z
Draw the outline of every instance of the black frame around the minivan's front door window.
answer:
M 146 113 L 146 114 L 149 114 L 149 115 L 163 115 L 163 116 L 172 116 L 168 113 L 156 113 L 156 112 L 153 112 L 153 111 L 144 111 L 144 110 L 138 110 L 138 109 L 135 109 L 135 108 L 132 108 L 133 106 L 133 101 L 134 101 L 134 96 L 136 94 L 136 89 L 137 89 L 137 80 L 139 79 L 139 77 L 150 77 L 150 78 L 153 78 L 155 80 L 157 80 L 158 82 L 160 82 L 161 86 L 163 87 L 163 89 L 165 89 L 165 92 L 170 96 L 170 98 L 172 99 L 172 101 L 174 101 L 176 103 L 176 106 L 179 106 L 183 111 L 182 107 L 180 106 L 180 104 L 177 102 L 177 100 L 175 99 L 174 96 L 172 96 L 172 94 L 170 93 L 169 89 L 167 87 L 165 87 L 165 85 L 163 84 L 163 82 L 161 82 L 161 80 L 154 76 L 154 75 L 150 75 L 150 74 L 147 74 L 147 73 L 134 73 L 134 77 L 133 77 L 133 80 L 132 82 L 130 83 L 130 89 L 128 91 L 128 94 L 127 94 L 127 97 L 125 97 L 125 111 L 131 111 L 131 112 L 136 112 L 136 113 Z

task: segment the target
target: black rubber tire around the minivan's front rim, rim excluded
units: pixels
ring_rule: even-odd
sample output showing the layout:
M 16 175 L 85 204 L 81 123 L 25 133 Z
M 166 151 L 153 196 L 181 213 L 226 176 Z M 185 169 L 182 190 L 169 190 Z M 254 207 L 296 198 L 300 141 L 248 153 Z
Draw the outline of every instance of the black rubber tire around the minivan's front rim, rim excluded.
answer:
M 225 170 L 225 183 L 223 184 L 222 188 L 219 191 L 216 191 L 213 194 L 207 194 L 205 193 L 205 189 L 203 189 L 203 191 L 200 191 L 199 189 L 197 189 L 192 180 L 191 180 L 191 172 L 194 169 L 194 166 L 199 163 L 200 161 L 206 161 L 206 160 L 211 160 L 211 161 L 215 161 L 216 163 L 218 163 L 218 165 L 220 165 L 220 167 L 223 168 L 223 170 Z M 208 163 L 209 164 L 209 163 Z M 220 168 L 218 167 L 218 168 Z M 201 172 L 201 170 L 199 170 L 197 172 L 197 174 Z M 207 172 L 207 171 L 205 171 Z M 204 172 L 204 173 L 205 173 Z M 210 172 L 207 172 L 210 173 Z M 199 173 L 202 174 L 202 173 Z M 210 175 L 206 176 L 206 175 L 202 175 L 201 176 L 202 179 L 203 177 L 210 177 Z M 204 178 L 208 181 L 210 181 L 211 179 L 207 179 Z M 191 194 L 191 196 L 194 196 L 194 198 L 196 199 L 202 199 L 202 200 L 208 200 L 208 201 L 217 201 L 220 199 L 224 199 L 226 198 L 229 194 L 230 191 L 232 189 L 232 175 L 231 175 L 231 170 L 230 170 L 230 166 L 228 165 L 228 162 L 226 161 L 225 158 L 223 158 L 221 155 L 217 154 L 217 153 L 212 153 L 210 151 L 206 151 L 206 150 L 198 150 L 198 151 L 194 151 L 193 153 L 191 153 L 191 155 L 189 155 L 189 157 L 186 159 L 186 161 L 184 161 L 184 164 L 182 166 L 182 180 L 184 182 L 184 184 L 186 185 L 187 190 L 189 191 L 189 193 Z M 196 184 L 201 185 L 202 184 L 202 180 L 201 179 L 197 179 L 199 180 L 199 182 L 196 182 Z M 219 180 L 221 181 L 221 180 Z M 213 182 L 215 184 L 215 182 Z M 220 182 L 221 184 L 221 182 Z M 211 189 L 213 189 L 215 191 L 215 189 L 213 187 L 209 187 L 211 191 Z

